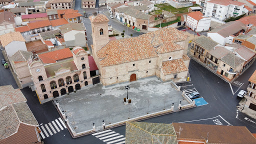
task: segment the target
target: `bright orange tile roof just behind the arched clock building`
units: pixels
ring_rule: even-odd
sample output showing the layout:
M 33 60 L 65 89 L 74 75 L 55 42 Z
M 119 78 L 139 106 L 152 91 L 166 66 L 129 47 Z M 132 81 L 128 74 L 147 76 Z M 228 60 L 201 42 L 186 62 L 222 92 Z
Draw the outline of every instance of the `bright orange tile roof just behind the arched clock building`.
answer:
M 55 51 L 50 51 L 42 54 L 38 54 L 42 62 L 45 63 L 55 63 L 57 60 L 72 57 L 73 54 L 69 48 L 63 48 Z

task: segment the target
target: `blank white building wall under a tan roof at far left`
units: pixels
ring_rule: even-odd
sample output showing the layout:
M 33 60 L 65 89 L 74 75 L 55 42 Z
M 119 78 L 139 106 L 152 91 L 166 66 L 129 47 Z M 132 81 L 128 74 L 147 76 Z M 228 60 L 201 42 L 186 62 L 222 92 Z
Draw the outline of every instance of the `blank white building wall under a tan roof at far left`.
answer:
M 24 41 L 12 41 L 9 44 L 5 45 L 4 49 L 8 56 L 12 56 L 18 50 L 27 51 L 26 44 Z

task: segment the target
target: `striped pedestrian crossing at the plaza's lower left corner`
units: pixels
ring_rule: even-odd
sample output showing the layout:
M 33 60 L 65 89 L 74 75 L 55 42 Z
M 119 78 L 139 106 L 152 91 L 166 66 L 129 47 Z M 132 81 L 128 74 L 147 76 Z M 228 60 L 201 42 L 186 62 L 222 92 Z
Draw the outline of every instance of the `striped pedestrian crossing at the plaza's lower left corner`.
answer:
M 56 123 L 57 124 L 56 124 Z M 61 123 L 61 124 L 60 124 Z M 58 126 L 57 126 L 58 125 Z M 51 121 L 51 122 L 48 122 L 48 123 L 46 123 L 46 124 L 44 124 L 44 125 L 41 125 L 41 126 L 39 126 L 40 127 L 40 129 L 41 129 L 41 132 L 40 132 L 40 134 L 41 134 L 41 136 L 42 136 L 42 139 L 44 139 L 44 138 L 46 138 L 46 137 L 49 137 L 49 136 L 51 136 L 51 135 L 53 135 L 53 134 L 55 134 L 55 133 L 57 133 L 57 132 L 59 132 L 60 130 L 59 130 L 59 128 L 61 129 L 61 130 L 63 130 L 64 128 L 66 128 L 66 125 L 64 124 L 64 122 L 63 122 L 63 120 L 60 118 L 60 117 L 58 117 L 57 119 L 55 119 L 55 121 L 53 120 L 53 121 Z M 46 130 L 47 129 L 47 130 Z M 56 131 L 57 130 L 57 131 Z M 53 133 L 52 133 L 53 132 Z M 45 135 L 44 135 L 45 134 Z

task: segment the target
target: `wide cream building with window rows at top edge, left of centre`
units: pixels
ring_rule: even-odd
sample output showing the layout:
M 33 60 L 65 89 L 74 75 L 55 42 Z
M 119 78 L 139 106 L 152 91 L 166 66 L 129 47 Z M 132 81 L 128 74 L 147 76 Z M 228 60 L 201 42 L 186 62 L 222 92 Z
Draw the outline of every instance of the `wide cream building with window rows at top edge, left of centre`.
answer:
M 68 9 L 74 7 L 74 0 L 49 0 L 47 9 Z

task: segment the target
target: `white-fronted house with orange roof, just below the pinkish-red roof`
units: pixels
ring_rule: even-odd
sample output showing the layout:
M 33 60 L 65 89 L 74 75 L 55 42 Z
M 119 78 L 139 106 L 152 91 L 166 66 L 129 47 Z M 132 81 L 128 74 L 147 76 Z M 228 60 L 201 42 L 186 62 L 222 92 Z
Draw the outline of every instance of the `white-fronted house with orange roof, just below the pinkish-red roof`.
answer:
M 29 22 L 27 23 L 27 26 L 29 27 L 31 34 L 40 33 L 46 30 L 52 30 L 51 23 L 48 19 L 36 22 Z

